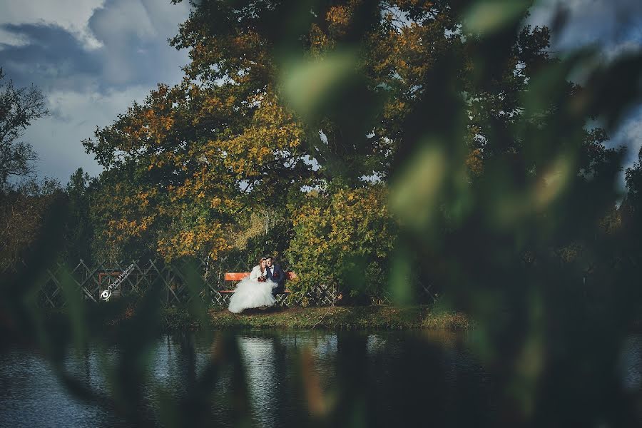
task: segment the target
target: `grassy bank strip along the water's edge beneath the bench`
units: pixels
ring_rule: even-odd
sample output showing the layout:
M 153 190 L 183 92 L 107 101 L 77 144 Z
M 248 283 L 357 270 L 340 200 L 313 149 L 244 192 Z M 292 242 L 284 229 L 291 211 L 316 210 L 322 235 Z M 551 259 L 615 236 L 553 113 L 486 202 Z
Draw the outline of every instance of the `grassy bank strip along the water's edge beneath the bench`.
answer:
M 167 330 L 200 328 L 201 322 L 180 308 L 163 311 Z M 233 314 L 213 309 L 207 322 L 213 328 L 292 328 L 330 330 L 404 330 L 419 328 L 469 329 L 472 323 L 461 313 L 432 313 L 428 306 L 290 307 L 246 310 Z

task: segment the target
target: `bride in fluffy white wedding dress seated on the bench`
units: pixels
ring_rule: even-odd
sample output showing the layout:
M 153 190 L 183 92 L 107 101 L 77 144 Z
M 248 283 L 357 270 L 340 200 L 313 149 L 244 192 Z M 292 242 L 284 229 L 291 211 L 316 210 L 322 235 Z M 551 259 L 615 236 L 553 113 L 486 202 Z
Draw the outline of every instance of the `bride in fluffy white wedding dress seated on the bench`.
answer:
M 272 306 L 275 304 L 276 299 L 272 295 L 272 288 L 278 284 L 272 282 L 265 277 L 265 262 L 267 260 L 262 257 L 259 264 L 252 268 L 250 276 L 243 278 L 238 285 L 234 294 L 230 297 L 230 305 L 228 310 L 235 314 L 243 312 L 250 307 Z

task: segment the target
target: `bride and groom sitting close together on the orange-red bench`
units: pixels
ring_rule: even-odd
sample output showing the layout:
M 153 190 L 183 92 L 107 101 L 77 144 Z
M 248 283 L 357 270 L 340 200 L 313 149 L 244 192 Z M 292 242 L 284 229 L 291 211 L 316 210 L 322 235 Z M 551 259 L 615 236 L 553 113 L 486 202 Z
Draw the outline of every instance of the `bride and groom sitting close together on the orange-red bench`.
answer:
M 262 257 L 250 276 L 240 280 L 230 297 L 228 310 L 238 314 L 250 307 L 273 306 L 275 295 L 285 292 L 285 272 L 271 257 Z

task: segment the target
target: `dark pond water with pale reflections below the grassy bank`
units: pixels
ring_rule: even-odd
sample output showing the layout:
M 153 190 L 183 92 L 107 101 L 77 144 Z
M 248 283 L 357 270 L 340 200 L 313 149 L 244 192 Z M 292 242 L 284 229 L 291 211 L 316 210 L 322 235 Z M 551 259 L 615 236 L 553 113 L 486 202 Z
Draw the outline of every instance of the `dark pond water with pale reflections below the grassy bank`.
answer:
M 354 426 L 495 425 L 498 392 L 463 333 L 262 331 L 237 332 L 235 339 L 250 403 L 244 411 L 255 426 L 307 426 L 329 409 L 337 422 Z M 159 338 L 146 363 L 141 409 L 151 424 L 163 414 L 163 394 L 178 403 L 198 387 L 213 349 L 211 339 L 193 334 Z M 106 367 L 119 352 L 117 345 L 70 350 L 65 370 L 109 395 Z M 619 370 L 626 389 L 640 388 L 642 335 L 628 338 Z M 206 398 L 213 425 L 237 420 L 234 379 L 230 369 L 213 380 L 215 392 Z M 128 427 L 131 422 L 73 396 L 38 352 L 13 348 L 0 353 L 0 426 Z

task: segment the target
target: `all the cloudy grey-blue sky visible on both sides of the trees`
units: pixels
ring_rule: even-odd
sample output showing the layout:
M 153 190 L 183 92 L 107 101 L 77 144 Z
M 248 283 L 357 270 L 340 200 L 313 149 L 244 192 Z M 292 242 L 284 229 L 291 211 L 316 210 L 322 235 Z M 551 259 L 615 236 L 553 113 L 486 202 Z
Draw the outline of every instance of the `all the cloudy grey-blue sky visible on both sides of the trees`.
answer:
M 605 58 L 642 46 L 640 0 L 543 0 L 533 23 L 546 23 L 563 4 L 566 29 L 554 39 L 560 52 L 598 44 Z M 0 66 L 16 86 L 36 84 L 51 116 L 28 128 L 25 140 L 39 154 L 39 175 L 66 183 L 81 166 L 101 168 L 84 153 L 83 138 L 106 126 L 157 83 L 178 83 L 185 51 L 167 43 L 189 14 L 187 0 L 0 0 Z M 642 108 L 631 112 L 613 136 L 630 147 L 628 163 L 642 144 Z

